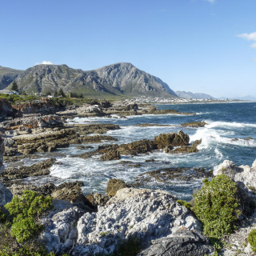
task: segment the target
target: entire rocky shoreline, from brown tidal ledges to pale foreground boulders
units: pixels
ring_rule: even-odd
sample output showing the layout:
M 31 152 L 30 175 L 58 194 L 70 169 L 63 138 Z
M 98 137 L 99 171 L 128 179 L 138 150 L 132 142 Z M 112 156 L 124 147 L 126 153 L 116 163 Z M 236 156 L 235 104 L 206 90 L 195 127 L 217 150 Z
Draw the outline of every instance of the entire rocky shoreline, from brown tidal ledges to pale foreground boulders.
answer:
M 162 190 L 142 189 L 143 184 L 154 180 L 189 181 L 191 179 L 213 178 L 225 174 L 236 182 L 239 190 L 250 196 L 255 204 L 256 161 L 252 166 L 235 166 L 225 161 L 214 172 L 205 169 L 165 168 L 138 175 L 134 182 L 110 179 L 106 194 L 82 194 L 82 182 L 64 182 L 58 186 L 46 182 L 41 186 L 30 183 L 28 178 L 50 175 L 50 167 L 56 159 L 59 148 L 78 145 L 81 150 L 86 144 L 109 142 L 96 150 L 75 154 L 74 158 L 98 157 L 101 161 L 120 160 L 122 156 L 136 156 L 148 152 L 167 154 L 191 154 L 198 152 L 201 141 L 190 143 L 190 137 L 182 130 L 178 133 L 158 134 L 154 139 L 142 139 L 125 144 L 106 135 L 108 130 L 118 130 L 114 124 L 68 124 L 66 118 L 102 117 L 118 115 L 125 118 L 140 114 L 190 114 L 176 110 L 158 110 L 144 104 L 122 102 L 91 102 L 85 106 L 56 107 L 50 100 L 10 106 L 2 101 L 2 122 L 0 122 L 0 210 L 13 195 L 21 196 L 23 190 L 32 190 L 54 199 L 54 209 L 40 219 L 44 230 L 39 240 L 47 250 L 56 254 L 70 255 L 112 254 L 120 241 L 136 238 L 140 244 L 138 256 L 146 255 L 206 255 L 214 253 L 209 238 L 202 234 L 202 223 L 194 213 L 178 202 L 174 195 Z M 187 122 L 181 126 L 203 127 L 205 122 Z M 150 124 L 142 124 L 150 126 Z M 113 143 L 110 143 L 113 142 Z M 54 152 L 55 151 L 55 152 Z M 42 158 L 44 156 L 44 160 Z M 62 153 L 61 153 L 62 154 Z M 65 155 L 65 154 L 64 154 Z M 26 160 L 40 159 L 34 164 Z M 6 169 L 2 162 L 5 161 Z M 154 158 L 146 160 L 147 164 Z M 120 165 L 136 167 L 138 163 L 119 161 Z M 242 202 L 241 202 L 242 203 Z M 246 204 L 242 204 L 244 208 Z M 249 207 L 249 206 L 248 206 Z M 247 209 L 247 208 L 246 208 Z M 247 215 L 241 215 L 241 228 L 226 236 L 223 255 L 253 255 L 250 244 L 239 239 L 254 229 L 254 212 L 248 208 Z M 248 217 L 246 217 L 248 216 Z M 250 218 L 247 222 L 246 218 Z M 240 232 L 240 233 L 239 233 Z M 232 246 L 230 246 L 232 243 Z M 234 244 L 234 246 L 233 246 Z

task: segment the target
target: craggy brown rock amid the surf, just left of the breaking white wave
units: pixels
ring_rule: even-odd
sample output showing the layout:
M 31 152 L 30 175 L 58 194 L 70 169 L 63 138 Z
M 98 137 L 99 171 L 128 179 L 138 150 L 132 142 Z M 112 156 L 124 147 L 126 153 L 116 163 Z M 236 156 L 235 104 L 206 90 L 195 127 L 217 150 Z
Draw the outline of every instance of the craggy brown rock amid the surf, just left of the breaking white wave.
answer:
M 182 130 L 178 131 L 178 134 L 159 134 L 154 138 L 154 143 L 158 149 L 163 149 L 166 146 L 188 146 L 189 142 L 189 135 L 184 134 Z

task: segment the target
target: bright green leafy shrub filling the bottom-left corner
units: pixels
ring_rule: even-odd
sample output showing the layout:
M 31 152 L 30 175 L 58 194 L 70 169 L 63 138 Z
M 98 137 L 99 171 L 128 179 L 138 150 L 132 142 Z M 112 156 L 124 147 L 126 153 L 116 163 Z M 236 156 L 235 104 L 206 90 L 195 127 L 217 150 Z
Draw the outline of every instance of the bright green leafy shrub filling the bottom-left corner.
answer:
M 52 198 L 38 195 L 34 191 L 23 191 L 21 198 L 14 196 L 5 207 L 9 211 L 10 221 L 6 217 L 1 218 L 0 256 L 54 255 L 47 254 L 45 247 L 36 242 L 43 229 L 37 223 L 38 217 L 52 207 Z

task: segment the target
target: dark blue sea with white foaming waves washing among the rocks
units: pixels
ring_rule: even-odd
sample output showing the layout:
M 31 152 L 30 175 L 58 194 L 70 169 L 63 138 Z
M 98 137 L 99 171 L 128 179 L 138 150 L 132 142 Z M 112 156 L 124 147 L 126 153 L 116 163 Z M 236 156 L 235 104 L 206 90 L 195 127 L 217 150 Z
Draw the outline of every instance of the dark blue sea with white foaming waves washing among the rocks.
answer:
M 205 168 L 213 170 L 228 159 L 236 165 L 251 165 L 256 158 L 256 103 L 218 103 L 218 104 L 182 104 L 157 105 L 159 109 L 173 109 L 180 112 L 193 112 L 195 115 L 185 114 L 146 114 L 119 118 L 74 118 L 70 123 L 114 123 L 121 126 L 120 130 L 110 130 L 107 135 L 118 138 L 118 142 L 129 143 L 143 138 L 154 139 L 158 134 L 177 133 L 183 130 L 190 136 L 190 142 L 202 139 L 199 151 L 193 154 L 166 154 L 162 150 L 155 150 L 138 156 L 122 156 L 117 161 L 101 161 L 100 156 L 89 159 L 70 158 L 75 154 L 96 150 L 101 144 L 89 144 L 93 149 L 78 150 L 76 145 L 67 149 L 60 149 L 66 154 L 65 158 L 58 158 L 58 162 L 50 169 L 50 175 L 57 178 L 57 183 L 82 181 L 85 194 L 92 192 L 105 193 L 106 184 L 110 178 L 119 178 L 132 183 L 143 174 L 151 170 L 170 167 Z M 183 122 L 206 122 L 205 127 L 190 128 L 181 126 Z M 141 123 L 156 124 L 156 126 L 139 127 Z M 163 126 L 157 126 L 157 125 Z M 86 145 L 88 146 L 88 144 Z M 154 162 L 145 162 L 154 158 Z M 118 164 L 120 161 L 139 163 L 139 167 Z M 190 181 L 170 180 L 168 182 L 150 181 L 142 187 L 167 190 L 178 198 L 189 200 L 193 191 L 202 186 L 202 179 Z

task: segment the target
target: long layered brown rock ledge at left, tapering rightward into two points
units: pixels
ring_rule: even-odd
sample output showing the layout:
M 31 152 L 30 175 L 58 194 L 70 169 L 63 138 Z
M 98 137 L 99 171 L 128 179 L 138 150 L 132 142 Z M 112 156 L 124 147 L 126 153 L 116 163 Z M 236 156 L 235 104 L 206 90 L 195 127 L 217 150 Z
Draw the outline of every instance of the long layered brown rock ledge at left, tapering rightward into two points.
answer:
M 30 129 L 30 128 L 29 128 Z M 107 135 L 87 136 L 86 134 L 102 134 L 107 130 L 119 129 L 118 125 L 74 125 L 51 128 L 35 129 L 31 134 L 21 134 L 12 137 L 10 147 L 6 147 L 6 155 L 14 155 L 17 152 L 21 154 L 33 154 L 35 152 L 52 152 L 57 148 L 68 147 L 70 144 L 97 143 L 102 140 L 116 141 Z M 15 130 L 18 134 L 19 130 Z M 23 132 L 25 133 L 25 132 Z

